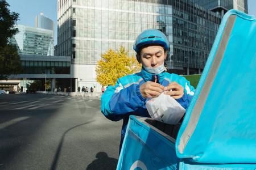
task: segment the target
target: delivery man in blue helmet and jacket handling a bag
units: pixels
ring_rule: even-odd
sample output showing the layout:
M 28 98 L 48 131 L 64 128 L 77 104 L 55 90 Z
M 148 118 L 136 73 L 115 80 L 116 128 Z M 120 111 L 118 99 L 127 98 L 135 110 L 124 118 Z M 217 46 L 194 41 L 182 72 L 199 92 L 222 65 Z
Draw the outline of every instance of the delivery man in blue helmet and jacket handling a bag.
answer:
M 145 104 L 151 97 L 164 92 L 185 109 L 192 99 L 195 90 L 190 83 L 183 76 L 165 72 L 168 44 L 162 32 L 143 31 L 134 42 L 136 57 L 142 64 L 141 72 L 119 78 L 101 97 L 101 112 L 112 121 L 123 119 L 120 150 L 129 116 L 150 117 Z

